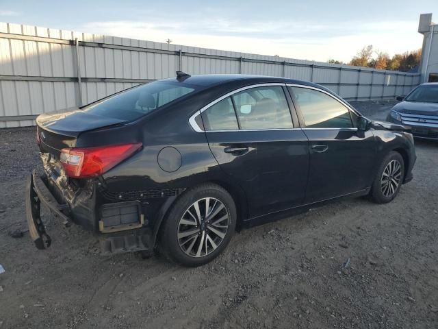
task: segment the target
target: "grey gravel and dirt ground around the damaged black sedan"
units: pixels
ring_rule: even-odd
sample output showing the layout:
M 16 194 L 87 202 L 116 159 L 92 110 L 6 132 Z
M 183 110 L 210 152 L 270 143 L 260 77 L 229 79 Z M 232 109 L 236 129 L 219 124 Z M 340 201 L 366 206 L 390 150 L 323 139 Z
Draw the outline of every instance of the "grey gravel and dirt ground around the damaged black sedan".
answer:
M 393 103 L 354 105 L 378 119 Z M 438 143 L 416 141 L 414 180 L 385 205 L 351 199 L 236 233 L 186 269 L 99 255 L 92 234 L 43 214 L 25 232 L 35 130 L 0 130 L 0 328 L 438 328 Z

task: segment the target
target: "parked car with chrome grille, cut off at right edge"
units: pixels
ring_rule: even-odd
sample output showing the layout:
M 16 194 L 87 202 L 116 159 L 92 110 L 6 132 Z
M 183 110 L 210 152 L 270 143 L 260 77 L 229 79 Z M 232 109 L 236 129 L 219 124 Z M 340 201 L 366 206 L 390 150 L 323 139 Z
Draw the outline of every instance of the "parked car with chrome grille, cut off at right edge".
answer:
M 389 112 L 387 121 L 405 125 L 417 138 L 438 141 L 438 83 L 420 84 Z

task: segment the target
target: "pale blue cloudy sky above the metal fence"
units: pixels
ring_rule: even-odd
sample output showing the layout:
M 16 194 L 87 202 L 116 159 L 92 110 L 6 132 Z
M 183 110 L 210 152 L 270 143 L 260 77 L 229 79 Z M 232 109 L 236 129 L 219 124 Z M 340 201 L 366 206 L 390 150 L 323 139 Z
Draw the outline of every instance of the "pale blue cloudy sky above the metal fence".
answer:
M 0 0 L 0 21 L 302 60 L 419 49 L 438 0 Z

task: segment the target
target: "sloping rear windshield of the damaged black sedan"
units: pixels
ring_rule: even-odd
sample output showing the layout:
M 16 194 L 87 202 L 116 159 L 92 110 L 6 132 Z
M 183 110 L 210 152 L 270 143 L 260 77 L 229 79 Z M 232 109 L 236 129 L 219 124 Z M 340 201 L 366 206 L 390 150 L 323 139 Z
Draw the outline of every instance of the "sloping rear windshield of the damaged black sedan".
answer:
M 175 82 L 151 82 L 82 108 L 91 114 L 133 121 L 162 106 L 188 95 L 193 86 Z

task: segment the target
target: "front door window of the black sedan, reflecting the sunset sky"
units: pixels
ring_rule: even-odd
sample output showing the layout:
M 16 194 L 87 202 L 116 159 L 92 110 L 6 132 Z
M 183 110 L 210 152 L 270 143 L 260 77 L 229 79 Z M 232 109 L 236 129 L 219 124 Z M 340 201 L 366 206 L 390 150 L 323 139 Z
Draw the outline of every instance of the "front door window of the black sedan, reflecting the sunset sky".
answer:
M 342 103 L 321 91 L 289 87 L 298 105 L 306 127 L 351 128 L 350 111 Z

